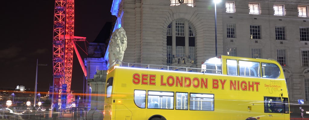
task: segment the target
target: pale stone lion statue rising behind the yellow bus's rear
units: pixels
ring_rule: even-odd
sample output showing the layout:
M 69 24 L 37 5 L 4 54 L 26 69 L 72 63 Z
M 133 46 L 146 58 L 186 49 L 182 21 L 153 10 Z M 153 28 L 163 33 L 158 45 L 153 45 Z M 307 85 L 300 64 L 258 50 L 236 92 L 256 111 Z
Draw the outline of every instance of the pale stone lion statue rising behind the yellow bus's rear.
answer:
M 127 48 L 127 36 L 125 35 L 125 30 L 121 27 L 116 29 L 115 32 L 112 33 L 112 38 L 109 42 L 108 48 L 108 61 L 109 67 L 112 67 L 115 64 L 120 64 L 119 61 L 123 60 L 123 55 L 125 53 L 125 49 Z

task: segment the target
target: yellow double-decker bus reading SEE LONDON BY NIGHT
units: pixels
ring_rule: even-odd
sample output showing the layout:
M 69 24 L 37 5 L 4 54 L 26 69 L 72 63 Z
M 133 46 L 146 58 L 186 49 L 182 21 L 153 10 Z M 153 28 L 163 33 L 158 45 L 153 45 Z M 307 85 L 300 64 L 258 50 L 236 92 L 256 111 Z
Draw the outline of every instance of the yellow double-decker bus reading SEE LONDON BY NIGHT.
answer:
M 201 68 L 123 63 L 106 80 L 104 120 L 289 120 L 276 60 L 217 56 Z

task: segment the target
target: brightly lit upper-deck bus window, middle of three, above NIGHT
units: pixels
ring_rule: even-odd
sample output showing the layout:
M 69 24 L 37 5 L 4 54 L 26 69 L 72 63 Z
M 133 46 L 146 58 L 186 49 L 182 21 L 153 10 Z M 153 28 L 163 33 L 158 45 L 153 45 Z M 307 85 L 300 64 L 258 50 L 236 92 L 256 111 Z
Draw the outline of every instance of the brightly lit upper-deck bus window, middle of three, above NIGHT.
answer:
M 239 75 L 260 77 L 260 63 L 239 60 Z

